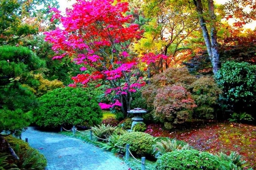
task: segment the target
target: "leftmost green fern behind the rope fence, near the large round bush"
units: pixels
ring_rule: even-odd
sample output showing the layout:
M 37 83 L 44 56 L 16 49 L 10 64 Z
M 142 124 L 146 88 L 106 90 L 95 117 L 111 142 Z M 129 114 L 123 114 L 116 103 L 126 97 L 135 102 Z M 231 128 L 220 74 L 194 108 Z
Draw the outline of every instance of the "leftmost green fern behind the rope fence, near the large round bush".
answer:
M 98 138 L 108 139 L 109 136 L 112 135 L 116 129 L 117 129 L 117 127 L 101 124 L 101 125 L 92 127 L 92 132 Z M 101 140 L 101 139 L 98 139 L 98 140 Z

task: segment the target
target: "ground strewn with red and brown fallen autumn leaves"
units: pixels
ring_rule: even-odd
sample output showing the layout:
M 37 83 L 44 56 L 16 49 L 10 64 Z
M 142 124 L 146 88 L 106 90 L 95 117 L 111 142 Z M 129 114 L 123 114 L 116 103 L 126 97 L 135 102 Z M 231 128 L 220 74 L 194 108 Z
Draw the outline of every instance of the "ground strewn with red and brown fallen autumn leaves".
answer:
M 230 154 L 237 151 L 247 164 L 256 168 L 256 126 L 232 122 L 192 123 L 190 128 L 167 132 L 159 125 L 148 125 L 148 134 L 168 136 L 187 142 L 200 151 L 212 154 L 224 152 Z

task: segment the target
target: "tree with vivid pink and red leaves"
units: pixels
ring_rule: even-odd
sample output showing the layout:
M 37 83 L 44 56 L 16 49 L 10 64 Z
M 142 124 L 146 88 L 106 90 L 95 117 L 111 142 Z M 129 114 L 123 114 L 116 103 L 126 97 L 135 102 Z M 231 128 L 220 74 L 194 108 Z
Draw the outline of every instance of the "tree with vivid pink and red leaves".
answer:
M 59 19 L 64 28 L 45 33 L 58 53 L 54 59 L 69 56 L 82 65 L 82 71 L 92 70 L 73 77 L 75 84 L 108 84 L 110 88 L 105 93 L 115 93 L 123 113 L 131 109 L 131 93 L 143 85 L 136 69 L 136 56 L 129 48 L 141 38 L 142 32 L 138 24 L 129 24 L 132 16 L 125 15 L 128 7 L 126 2 L 79 0 L 66 11 L 67 16 L 52 9 L 56 13 L 52 20 Z

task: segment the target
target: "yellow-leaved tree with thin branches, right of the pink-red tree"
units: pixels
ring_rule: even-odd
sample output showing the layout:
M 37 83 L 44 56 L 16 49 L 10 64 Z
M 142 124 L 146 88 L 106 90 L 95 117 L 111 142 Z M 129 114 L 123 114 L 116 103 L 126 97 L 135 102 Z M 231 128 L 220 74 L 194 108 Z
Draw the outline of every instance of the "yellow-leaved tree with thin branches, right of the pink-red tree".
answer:
M 142 61 L 155 72 L 163 72 L 179 63 L 179 52 L 192 51 L 188 36 L 199 28 L 197 15 L 186 5 L 172 0 L 144 2 L 143 12 L 150 22 L 144 24 L 144 36 L 135 44 L 135 50 L 146 54 Z

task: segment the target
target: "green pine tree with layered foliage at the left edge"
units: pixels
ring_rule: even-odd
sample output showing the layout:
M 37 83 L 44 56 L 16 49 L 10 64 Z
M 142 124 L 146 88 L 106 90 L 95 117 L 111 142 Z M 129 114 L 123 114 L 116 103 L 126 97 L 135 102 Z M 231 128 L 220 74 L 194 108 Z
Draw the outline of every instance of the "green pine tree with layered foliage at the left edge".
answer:
M 0 46 L 0 150 L 15 152 L 2 136 L 18 134 L 30 125 L 30 111 L 37 106 L 32 86 L 38 84 L 33 73 L 44 61 L 26 47 Z

